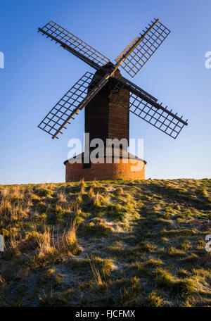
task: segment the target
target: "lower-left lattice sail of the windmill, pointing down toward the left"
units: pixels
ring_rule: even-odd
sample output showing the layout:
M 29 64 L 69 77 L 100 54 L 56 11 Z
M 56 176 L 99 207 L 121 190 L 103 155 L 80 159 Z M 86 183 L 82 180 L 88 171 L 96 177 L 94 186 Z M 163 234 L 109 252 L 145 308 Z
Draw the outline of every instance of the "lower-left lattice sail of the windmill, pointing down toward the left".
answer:
M 97 87 L 98 83 L 101 82 L 101 77 L 94 77 L 93 73 L 85 73 L 69 90 L 64 96 L 56 103 L 55 106 L 49 111 L 46 117 L 40 122 L 38 127 L 44 130 L 55 138 L 59 128 L 64 124 L 70 124 L 67 119 L 74 119 L 73 115 L 77 114 L 77 109 L 80 103 L 87 97 L 88 89 L 91 85 L 91 90 Z M 79 110 L 82 110 L 79 108 Z M 66 129 L 65 126 L 63 128 Z M 60 132 L 63 134 L 63 132 Z M 58 137 L 56 137 L 58 138 Z

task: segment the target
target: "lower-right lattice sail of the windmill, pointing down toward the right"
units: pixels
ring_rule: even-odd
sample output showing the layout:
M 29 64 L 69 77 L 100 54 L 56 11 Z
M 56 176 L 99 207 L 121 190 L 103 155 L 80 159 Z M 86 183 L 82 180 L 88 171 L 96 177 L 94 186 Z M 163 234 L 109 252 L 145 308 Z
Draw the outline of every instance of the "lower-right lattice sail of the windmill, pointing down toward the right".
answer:
M 145 120 L 149 124 L 158 128 L 165 134 L 176 139 L 184 125 L 187 125 L 187 120 L 184 121 L 179 116 L 169 111 L 167 107 L 163 107 L 162 103 L 158 103 L 158 99 L 153 96 L 150 97 L 143 89 L 135 86 L 134 88 L 130 84 L 125 85 L 123 82 L 115 80 L 116 84 L 113 90 L 110 92 L 110 96 L 115 94 L 118 96 L 122 89 L 131 89 L 129 92 L 129 111 L 139 118 Z M 115 101 L 115 98 L 114 98 Z

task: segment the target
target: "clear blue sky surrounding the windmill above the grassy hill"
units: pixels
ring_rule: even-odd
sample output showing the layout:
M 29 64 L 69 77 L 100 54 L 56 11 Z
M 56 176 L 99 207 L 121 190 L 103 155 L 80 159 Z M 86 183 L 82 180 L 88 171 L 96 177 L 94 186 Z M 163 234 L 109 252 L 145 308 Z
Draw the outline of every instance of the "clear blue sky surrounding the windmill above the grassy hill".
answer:
M 64 182 L 68 139 L 82 139 L 84 112 L 60 139 L 37 128 L 87 70 L 86 63 L 37 34 L 50 20 L 114 59 L 153 18 L 172 31 L 133 80 L 188 118 L 176 140 L 131 115 L 144 139 L 146 177 L 210 177 L 210 0 L 7 0 L 0 6 L 0 184 Z

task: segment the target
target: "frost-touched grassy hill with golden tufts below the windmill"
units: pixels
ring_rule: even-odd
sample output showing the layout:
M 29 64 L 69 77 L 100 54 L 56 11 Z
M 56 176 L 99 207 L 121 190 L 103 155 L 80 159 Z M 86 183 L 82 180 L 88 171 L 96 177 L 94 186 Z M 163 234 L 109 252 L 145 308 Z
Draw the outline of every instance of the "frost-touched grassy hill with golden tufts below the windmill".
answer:
M 0 186 L 0 306 L 211 306 L 211 180 Z

